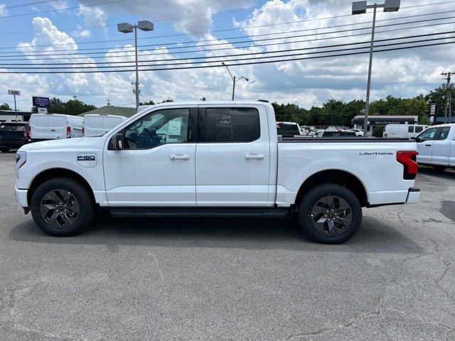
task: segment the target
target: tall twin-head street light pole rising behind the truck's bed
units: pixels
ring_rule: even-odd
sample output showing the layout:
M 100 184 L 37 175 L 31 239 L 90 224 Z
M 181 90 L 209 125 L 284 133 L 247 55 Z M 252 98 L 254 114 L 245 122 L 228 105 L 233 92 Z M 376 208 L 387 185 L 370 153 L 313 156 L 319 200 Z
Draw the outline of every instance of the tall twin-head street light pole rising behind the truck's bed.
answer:
M 367 1 L 353 2 L 353 15 L 367 13 L 367 9 L 373 9 L 373 26 L 371 27 L 371 43 L 370 43 L 370 61 L 368 63 L 368 81 L 367 81 L 367 96 L 365 100 L 365 118 L 363 119 L 363 136 L 367 136 L 368 130 L 368 114 L 370 111 L 370 89 L 371 89 L 371 72 L 373 70 L 373 52 L 375 48 L 375 29 L 376 29 L 376 12 L 378 7 L 384 8 L 385 12 L 396 12 L 400 9 L 400 0 L 385 0 L 384 4 L 368 5 Z

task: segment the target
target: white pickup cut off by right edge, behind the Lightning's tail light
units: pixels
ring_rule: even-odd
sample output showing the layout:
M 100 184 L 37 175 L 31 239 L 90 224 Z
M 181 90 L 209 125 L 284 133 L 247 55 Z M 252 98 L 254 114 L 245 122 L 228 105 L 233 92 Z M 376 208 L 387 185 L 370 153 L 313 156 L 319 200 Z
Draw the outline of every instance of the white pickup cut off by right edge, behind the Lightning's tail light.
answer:
M 455 167 L 455 124 L 441 124 L 425 129 L 417 137 L 417 163 L 439 171 Z

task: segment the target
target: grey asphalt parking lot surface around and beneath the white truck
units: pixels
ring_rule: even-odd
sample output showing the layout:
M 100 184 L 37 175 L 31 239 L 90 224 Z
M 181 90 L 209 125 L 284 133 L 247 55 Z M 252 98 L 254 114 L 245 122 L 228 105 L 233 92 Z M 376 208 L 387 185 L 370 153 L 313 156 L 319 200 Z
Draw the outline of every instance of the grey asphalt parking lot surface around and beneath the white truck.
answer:
M 455 340 L 455 172 L 364 210 L 346 244 L 290 220 L 113 220 L 43 234 L 0 153 L 0 340 Z

